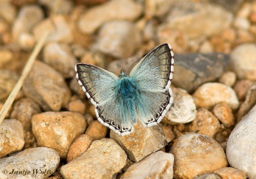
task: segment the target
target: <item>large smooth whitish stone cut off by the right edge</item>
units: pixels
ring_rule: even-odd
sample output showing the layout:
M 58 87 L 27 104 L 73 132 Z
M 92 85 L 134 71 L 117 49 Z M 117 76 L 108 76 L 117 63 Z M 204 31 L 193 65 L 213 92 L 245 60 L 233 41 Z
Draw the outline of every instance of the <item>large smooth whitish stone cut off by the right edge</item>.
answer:
M 256 106 L 236 125 L 226 146 L 229 165 L 250 178 L 256 178 Z

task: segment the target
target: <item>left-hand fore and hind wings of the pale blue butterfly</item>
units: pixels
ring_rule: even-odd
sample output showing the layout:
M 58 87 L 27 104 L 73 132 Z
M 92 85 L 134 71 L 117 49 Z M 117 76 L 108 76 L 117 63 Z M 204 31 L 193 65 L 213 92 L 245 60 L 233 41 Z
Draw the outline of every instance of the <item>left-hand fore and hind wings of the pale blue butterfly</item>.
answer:
M 78 83 L 95 106 L 98 121 L 119 135 L 130 134 L 133 125 L 126 120 L 126 108 L 119 104 L 116 94 L 116 82 L 119 78 L 94 65 L 80 63 L 76 64 L 75 69 Z

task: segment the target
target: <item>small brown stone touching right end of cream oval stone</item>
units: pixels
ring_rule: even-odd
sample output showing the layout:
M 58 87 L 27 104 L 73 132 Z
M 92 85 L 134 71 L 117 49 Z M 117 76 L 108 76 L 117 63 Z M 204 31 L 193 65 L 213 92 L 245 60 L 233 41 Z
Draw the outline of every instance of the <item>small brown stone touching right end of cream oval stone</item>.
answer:
M 233 89 L 236 91 L 236 96 L 238 97 L 239 100 L 245 99 L 248 90 L 251 88 L 253 84 L 254 82 L 252 82 L 249 79 L 242 79 L 236 82 Z

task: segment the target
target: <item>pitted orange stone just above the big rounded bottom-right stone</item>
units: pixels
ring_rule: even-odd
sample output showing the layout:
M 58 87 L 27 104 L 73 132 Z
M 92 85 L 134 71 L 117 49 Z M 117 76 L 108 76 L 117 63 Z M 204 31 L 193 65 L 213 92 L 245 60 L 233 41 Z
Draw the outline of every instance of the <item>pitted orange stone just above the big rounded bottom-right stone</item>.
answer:
M 204 108 L 200 108 L 198 109 L 197 117 L 188 125 L 188 128 L 190 132 L 207 135 L 213 139 L 220 131 L 221 125 L 215 115 Z

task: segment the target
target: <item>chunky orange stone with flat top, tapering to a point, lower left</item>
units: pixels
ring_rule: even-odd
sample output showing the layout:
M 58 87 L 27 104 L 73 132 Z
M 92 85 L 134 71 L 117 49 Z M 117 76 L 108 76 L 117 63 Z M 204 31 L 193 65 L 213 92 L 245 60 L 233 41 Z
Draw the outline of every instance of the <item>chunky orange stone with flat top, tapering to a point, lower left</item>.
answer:
M 32 131 L 38 146 L 55 149 L 65 159 L 69 146 L 86 128 L 84 116 L 69 111 L 44 112 L 32 118 Z

